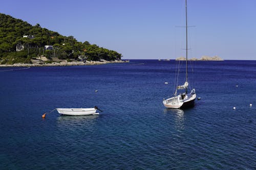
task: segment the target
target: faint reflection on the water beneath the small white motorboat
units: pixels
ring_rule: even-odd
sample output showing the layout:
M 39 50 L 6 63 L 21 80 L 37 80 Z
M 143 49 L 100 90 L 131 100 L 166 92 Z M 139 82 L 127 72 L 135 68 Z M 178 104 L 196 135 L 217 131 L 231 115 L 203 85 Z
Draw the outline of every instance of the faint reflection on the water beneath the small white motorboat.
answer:
M 99 115 L 60 115 L 57 118 L 57 126 L 60 129 L 92 128 Z

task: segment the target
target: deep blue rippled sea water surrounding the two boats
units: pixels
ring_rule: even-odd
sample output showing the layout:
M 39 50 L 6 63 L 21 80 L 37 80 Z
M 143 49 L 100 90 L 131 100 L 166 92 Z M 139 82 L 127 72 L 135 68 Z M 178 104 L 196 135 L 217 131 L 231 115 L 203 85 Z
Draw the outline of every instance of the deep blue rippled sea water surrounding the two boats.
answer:
M 256 61 L 191 65 L 188 110 L 162 105 L 176 61 L 0 67 L 0 169 L 256 169 Z

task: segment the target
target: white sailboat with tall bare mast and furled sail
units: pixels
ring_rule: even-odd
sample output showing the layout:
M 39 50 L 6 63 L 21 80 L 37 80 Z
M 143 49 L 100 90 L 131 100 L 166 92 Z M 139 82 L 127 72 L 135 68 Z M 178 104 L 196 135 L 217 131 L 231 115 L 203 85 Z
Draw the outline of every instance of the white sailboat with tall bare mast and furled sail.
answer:
M 190 92 L 188 92 L 188 74 L 187 74 L 187 0 L 186 0 L 186 81 L 183 85 L 178 85 L 175 90 L 175 94 L 172 98 L 163 99 L 163 105 L 167 108 L 174 109 L 185 109 L 189 107 L 193 107 L 195 103 L 195 99 L 197 97 L 196 90 L 193 88 Z M 183 90 L 183 92 L 178 93 L 178 90 Z M 185 92 L 184 92 L 185 90 Z

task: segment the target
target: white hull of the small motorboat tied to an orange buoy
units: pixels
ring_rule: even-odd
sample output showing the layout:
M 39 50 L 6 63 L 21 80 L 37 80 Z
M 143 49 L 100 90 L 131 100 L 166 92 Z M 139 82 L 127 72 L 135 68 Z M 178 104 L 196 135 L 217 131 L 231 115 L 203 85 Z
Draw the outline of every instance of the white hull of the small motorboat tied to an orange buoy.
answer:
M 66 115 L 91 115 L 95 114 L 97 109 L 95 108 L 57 108 L 56 109 L 60 114 Z

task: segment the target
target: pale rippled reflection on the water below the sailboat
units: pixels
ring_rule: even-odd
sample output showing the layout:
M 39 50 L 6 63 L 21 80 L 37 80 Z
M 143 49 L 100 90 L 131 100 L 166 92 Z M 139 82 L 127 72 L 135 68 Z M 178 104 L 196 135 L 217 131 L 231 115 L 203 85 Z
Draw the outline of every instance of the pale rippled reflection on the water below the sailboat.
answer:
M 175 127 L 178 131 L 185 129 L 184 123 L 184 111 L 182 109 L 165 108 L 164 113 L 174 114 Z

